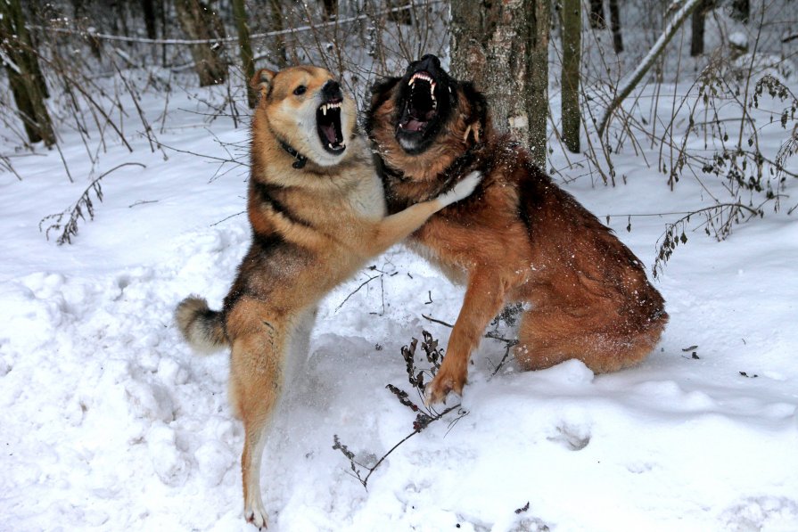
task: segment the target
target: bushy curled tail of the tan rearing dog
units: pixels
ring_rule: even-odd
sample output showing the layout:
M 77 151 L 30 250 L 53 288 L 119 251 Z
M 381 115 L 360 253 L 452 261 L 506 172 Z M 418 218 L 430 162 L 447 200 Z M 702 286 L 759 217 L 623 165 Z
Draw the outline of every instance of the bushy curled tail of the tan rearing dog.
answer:
M 185 341 L 199 353 L 210 354 L 228 345 L 222 313 L 210 310 L 203 298 L 191 296 L 180 301 L 175 321 Z

